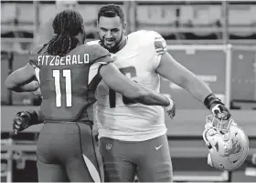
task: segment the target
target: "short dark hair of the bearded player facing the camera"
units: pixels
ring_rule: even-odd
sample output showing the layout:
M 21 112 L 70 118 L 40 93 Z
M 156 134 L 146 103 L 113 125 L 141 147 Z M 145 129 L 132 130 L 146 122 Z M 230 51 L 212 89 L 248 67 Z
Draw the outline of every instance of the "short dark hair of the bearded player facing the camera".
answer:
M 98 22 L 100 21 L 101 16 L 105 16 L 105 17 L 119 16 L 122 21 L 122 24 L 124 24 L 123 9 L 119 5 L 114 5 L 114 4 L 102 5 L 98 13 Z

